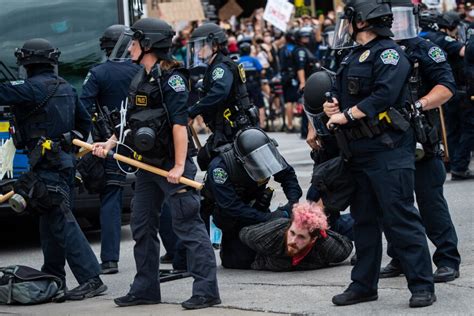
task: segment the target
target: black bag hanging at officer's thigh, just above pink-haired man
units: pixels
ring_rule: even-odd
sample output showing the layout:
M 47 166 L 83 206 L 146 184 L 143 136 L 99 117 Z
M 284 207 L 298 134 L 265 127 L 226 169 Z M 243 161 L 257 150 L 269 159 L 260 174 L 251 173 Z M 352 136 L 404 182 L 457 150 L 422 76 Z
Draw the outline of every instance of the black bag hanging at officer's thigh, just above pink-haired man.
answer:
M 311 183 L 321 194 L 328 214 L 342 212 L 350 205 L 355 184 L 342 157 L 335 157 L 316 165 Z

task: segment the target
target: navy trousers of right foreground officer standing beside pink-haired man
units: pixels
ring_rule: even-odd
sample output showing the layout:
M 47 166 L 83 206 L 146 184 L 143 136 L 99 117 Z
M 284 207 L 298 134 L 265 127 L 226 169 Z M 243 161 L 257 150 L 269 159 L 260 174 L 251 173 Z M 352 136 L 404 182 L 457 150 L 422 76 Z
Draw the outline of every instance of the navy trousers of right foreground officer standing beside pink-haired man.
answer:
M 410 146 L 408 139 L 406 142 Z M 351 215 L 357 253 L 350 290 L 377 291 L 383 228 L 401 261 L 410 291 L 434 292 L 425 230 L 414 206 L 414 170 L 400 161 L 400 153 L 403 151 L 373 152 L 350 165 L 356 181 Z

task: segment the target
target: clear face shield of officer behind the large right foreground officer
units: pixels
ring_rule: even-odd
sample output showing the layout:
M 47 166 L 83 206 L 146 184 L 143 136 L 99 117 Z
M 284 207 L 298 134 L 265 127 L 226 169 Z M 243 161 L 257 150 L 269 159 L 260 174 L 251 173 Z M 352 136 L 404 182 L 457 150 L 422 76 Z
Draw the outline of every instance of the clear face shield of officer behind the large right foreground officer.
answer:
M 418 34 L 418 21 L 411 7 L 394 7 L 392 33 L 396 41 L 414 38 Z

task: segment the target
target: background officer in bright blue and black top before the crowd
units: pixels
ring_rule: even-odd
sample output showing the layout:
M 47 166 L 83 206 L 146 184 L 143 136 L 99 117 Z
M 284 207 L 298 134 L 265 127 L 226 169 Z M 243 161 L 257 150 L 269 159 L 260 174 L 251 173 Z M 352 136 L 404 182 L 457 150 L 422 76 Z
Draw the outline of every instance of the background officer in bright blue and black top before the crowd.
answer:
M 245 70 L 245 85 L 249 93 L 250 100 L 259 109 L 264 107 L 262 95 L 262 64 L 257 58 L 250 56 L 251 44 L 247 41 L 239 43 L 239 64 Z

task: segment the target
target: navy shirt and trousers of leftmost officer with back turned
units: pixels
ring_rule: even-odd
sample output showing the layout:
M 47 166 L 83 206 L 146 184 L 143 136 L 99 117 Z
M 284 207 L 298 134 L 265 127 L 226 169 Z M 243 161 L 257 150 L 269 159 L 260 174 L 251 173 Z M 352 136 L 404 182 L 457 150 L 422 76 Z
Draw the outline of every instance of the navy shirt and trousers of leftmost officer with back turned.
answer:
M 44 100 L 47 102 L 38 108 Z M 55 75 L 52 68 L 37 70 L 26 80 L 1 84 L 0 103 L 13 105 L 16 128 L 24 137 L 32 171 L 57 201 L 51 209 L 43 210 L 39 217 L 44 256 L 42 271 L 65 281 L 64 265 L 67 261 L 78 283 L 84 284 L 99 275 L 100 267 L 71 211 L 74 155 L 65 150 L 45 150 L 34 165 L 31 155 L 40 137 L 57 144 L 64 133 L 73 129 L 88 135 L 90 116 L 79 102 L 74 88 Z

